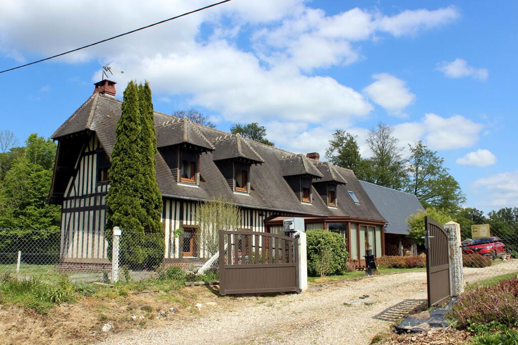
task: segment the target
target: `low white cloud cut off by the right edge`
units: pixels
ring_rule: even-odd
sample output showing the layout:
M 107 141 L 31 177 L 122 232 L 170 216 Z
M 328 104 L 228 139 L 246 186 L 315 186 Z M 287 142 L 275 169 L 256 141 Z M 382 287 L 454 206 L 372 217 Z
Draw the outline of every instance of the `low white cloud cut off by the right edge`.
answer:
M 484 193 L 485 204 L 492 207 L 514 207 L 518 205 L 518 171 L 501 172 L 478 179 L 473 184 Z

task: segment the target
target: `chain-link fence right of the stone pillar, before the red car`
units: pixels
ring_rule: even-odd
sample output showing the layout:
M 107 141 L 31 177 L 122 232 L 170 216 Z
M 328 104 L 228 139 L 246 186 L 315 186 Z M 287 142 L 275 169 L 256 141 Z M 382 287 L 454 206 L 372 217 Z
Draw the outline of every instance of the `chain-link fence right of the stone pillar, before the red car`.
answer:
M 465 280 L 518 274 L 518 223 L 492 221 L 488 236 L 471 238 L 463 229 L 462 253 Z

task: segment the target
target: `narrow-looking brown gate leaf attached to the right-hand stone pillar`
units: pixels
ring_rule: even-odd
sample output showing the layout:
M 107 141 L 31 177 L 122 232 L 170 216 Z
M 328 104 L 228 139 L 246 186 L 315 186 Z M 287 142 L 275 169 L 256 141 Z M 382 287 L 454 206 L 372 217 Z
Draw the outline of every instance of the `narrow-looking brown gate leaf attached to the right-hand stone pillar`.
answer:
M 448 236 L 442 226 L 435 220 L 425 217 L 424 223 L 428 307 L 433 307 L 450 299 Z

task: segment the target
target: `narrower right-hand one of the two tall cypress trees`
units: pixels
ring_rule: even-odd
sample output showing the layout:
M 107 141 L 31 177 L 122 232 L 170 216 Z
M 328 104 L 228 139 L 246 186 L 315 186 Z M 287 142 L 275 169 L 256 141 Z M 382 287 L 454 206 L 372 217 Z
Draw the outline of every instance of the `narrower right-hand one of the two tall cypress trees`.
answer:
M 153 102 L 148 82 L 139 85 L 138 95 L 142 127 L 139 151 L 143 161 L 143 179 L 139 194 L 141 207 L 145 211 L 145 218 L 141 220 L 141 223 L 146 233 L 143 246 L 148 249 L 147 264 L 154 267 L 164 257 L 165 242 L 164 229 L 161 223 L 162 194 L 156 182 L 155 174 L 155 153 L 157 149 L 153 123 Z

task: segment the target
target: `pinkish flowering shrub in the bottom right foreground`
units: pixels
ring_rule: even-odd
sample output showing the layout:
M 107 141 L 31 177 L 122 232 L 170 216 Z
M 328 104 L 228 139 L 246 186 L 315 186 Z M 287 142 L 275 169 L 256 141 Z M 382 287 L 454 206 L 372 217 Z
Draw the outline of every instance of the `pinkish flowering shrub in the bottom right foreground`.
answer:
M 518 323 L 518 279 L 502 280 L 462 295 L 451 316 L 460 327 L 492 321 L 513 326 Z

